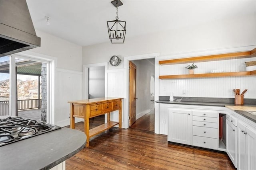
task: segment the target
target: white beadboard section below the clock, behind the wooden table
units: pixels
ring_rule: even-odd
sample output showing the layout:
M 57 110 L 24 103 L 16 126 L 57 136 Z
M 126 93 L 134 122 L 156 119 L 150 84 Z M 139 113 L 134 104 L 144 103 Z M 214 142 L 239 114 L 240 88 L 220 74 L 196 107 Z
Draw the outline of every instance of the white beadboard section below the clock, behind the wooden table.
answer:
M 126 92 L 124 89 L 124 73 L 125 69 L 107 70 L 107 97 L 124 98 Z M 124 110 L 124 100 L 122 102 L 122 108 Z M 118 111 L 110 113 L 110 120 L 118 121 Z M 124 116 L 122 116 L 122 122 L 124 122 Z

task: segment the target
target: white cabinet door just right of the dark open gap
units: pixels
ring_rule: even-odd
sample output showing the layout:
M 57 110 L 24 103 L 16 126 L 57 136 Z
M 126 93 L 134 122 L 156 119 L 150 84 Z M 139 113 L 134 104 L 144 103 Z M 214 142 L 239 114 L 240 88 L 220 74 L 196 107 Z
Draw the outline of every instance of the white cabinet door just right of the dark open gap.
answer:
M 230 121 L 226 120 L 226 150 L 230 160 L 236 167 L 237 160 L 237 130 Z

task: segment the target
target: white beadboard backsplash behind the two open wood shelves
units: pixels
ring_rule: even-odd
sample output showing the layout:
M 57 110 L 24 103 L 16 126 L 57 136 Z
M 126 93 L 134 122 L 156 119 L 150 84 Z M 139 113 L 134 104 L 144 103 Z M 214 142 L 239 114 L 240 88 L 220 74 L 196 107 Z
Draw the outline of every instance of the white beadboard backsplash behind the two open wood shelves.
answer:
M 198 66 L 195 74 L 216 69 L 222 69 L 223 72 L 246 71 L 244 62 L 248 61 L 256 61 L 256 57 L 195 63 Z M 188 64 L 161 65 L 160 75 L 188 74 L 185 68 Z M 240 88 L 240 91 L 248 89 L 244 98 L 256 98 L 256 76 L 164 79 L 159 81 L 159 85 L 159 96 L 170 96 L 170 92 L 173 92 L 174 96 L 234 98 L 232 89 Z

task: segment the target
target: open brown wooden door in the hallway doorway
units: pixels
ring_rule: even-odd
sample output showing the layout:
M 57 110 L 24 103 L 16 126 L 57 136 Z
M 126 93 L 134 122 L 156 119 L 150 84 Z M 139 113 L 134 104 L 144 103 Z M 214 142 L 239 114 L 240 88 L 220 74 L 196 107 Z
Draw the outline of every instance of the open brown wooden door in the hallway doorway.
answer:
M 136 65 L 129 61 L 129 126 L 136 121 Z

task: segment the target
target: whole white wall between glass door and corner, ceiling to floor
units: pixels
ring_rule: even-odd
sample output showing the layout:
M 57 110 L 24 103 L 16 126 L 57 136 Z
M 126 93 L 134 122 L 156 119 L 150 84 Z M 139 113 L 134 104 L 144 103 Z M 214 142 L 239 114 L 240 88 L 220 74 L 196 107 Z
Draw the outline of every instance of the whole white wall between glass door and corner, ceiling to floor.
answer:
M 82 47 L 39 30 L 36 30 L 36 35 L 41 37 L 41 47 L 29 51 L 57 60 L 54 76 L 54 124 L 69 125 L 68 101 L 82 99 Z

